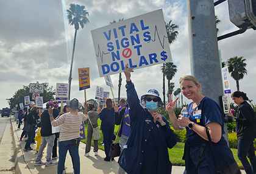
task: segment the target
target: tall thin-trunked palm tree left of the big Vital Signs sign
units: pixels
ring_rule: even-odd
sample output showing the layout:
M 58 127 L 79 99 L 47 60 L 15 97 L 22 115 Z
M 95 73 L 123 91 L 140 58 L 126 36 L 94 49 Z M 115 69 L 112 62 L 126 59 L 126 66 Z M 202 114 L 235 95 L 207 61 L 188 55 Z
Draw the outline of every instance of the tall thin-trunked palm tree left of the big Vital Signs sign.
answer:
M 72 68 L 73 68 L 73 60 L 74 60 L 74 50 L 76 47 L 76 34 L 77 30 L 79 30 L 79 26 L 84 29 L 84 24 L 89 23 L 87 16 L 89 15 L 88 11 L 85 10 L 84 5 L 79 4 L 70 4 L 69 9 L 66 10 L 68 12 L 68 22 L 70 26 L 74 26 L 74 43 L 73 43 L 73 52 L 71 59 L 71 66 L 68 78 L 68 100 L 70 99 L 70 91 L 71 91 L 71 80 L 72 80 Z

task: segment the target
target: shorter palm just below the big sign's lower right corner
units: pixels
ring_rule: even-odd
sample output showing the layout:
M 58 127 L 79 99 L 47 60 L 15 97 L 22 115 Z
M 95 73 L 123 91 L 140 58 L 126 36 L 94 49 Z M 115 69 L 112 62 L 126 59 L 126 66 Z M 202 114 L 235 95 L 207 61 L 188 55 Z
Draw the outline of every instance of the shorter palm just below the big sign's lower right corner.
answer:
M 166 78 L 168 80 L 168 95 L 172 94 L 174 83 L 170 83 L 172 78 L 174 77 L 175 73 L 177 72 L 177 66 L 172 63 L 168 62 L 165 64 L 165 68 L 162 68 L 163 73 L 166 75 Z

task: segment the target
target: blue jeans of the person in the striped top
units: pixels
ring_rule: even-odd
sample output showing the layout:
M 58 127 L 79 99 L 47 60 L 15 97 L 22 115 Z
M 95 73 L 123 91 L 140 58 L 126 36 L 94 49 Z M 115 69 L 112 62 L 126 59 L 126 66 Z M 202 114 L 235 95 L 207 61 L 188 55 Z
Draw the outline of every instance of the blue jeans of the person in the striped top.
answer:
M 80 158 L 79 158 L 79 146 L 75 144 L 75 140 L 71 139 L 68 141 L 59 141 L 59 162 L 58 162 L 58 174 L 62 174 L 65 168 L 66 153 L 69 152 L 72 163 L 74 174 L 80 174 Z

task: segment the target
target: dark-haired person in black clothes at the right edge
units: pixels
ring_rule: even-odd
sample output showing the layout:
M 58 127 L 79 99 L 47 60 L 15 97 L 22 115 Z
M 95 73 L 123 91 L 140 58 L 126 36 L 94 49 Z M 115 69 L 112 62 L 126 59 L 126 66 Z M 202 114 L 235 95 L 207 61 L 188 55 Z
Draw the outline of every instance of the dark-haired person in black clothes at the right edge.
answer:
M 254 152 L 255 137 L 255 113 L 246 100 L 249 100 L 244 92 L 235 91 L 231 95 L 233 101 L 238 105 L 236 117 L 236 135 L 238 139 L 238 158 L 243 164 L 246 173 L 256 173 L 256 158 Z M 250 159 L 251 164 L 249 163 Z

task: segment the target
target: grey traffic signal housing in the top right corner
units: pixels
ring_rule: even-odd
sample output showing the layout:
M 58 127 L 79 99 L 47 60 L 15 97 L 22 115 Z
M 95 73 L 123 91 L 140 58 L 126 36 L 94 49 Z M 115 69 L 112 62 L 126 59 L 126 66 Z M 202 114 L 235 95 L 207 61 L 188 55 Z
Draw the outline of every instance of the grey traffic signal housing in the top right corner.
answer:
M 230 21 L 239 28 L 256 30 L 256 0 L 228 0 Z

